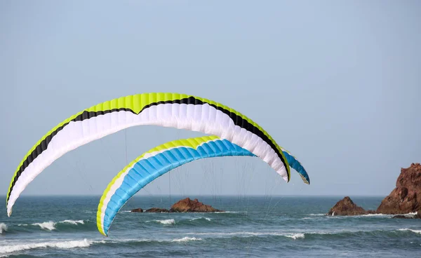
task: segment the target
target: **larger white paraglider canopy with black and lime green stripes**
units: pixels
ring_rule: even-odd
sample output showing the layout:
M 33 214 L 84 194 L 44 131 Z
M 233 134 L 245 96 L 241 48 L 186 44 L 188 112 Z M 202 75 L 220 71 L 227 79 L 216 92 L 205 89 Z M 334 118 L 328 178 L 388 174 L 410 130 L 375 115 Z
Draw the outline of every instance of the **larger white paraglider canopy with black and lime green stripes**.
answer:
M 287 182 L 288 161 L 260 125 L 218 102 L 178 93 L 144 93 L 102 102 L 51 129 L 22 158 L 6 196 L 8 216 L 27 184 L 77 147 L 135 125 L 160 125 L 218 135 L 262 158 Z

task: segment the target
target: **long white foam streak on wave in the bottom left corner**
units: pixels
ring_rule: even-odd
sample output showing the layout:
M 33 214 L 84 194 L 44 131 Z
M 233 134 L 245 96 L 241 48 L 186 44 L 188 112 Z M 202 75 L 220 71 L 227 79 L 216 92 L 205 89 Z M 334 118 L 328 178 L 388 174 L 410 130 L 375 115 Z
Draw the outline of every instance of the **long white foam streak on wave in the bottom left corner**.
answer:
M 19 244 L 19 245 L 4 245 L 0 246 L 0 254 L 9 254 L 12 252 L 20 252 L 24 250 L 31 250 L 36 248 L 60 248 L 60 249 L 69 249 L 77 247 L 89 247 L 93 243 L 103 243 L 104 241 L 94 242 L 87 240 L 69 240 L 69 241 L 57 241 L 57 242 L 41 242 L 41 243 L 29 243 L 29 244 Z

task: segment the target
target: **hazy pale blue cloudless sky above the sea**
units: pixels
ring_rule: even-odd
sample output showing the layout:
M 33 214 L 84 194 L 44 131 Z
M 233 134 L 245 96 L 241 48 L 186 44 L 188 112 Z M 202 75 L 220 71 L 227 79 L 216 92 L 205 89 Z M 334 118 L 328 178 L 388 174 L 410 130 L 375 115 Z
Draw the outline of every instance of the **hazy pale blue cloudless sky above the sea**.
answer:
M 420 1 L 0 1 L 0 195 L 65 118 L 171 92 L 253 119 L 312 184 L 295 171 L 286 183 L 258 158 L 213 158 L 140 195 L 386 196 L 421 162 L 420 11 Z M 122 130 L 65 154 L 22 195 L 100 195 L 144 151 L 200 135 Z

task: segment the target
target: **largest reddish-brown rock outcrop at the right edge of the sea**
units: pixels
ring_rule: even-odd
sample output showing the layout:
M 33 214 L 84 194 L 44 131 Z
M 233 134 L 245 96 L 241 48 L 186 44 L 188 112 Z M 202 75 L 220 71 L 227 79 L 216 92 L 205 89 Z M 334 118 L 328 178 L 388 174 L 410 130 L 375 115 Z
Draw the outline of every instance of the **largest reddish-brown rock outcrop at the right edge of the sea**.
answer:
M 404 214 L 421 209 L 421 165 L 412 163 L 402 168 L 396 188 L 383 199 L 377 213 Z

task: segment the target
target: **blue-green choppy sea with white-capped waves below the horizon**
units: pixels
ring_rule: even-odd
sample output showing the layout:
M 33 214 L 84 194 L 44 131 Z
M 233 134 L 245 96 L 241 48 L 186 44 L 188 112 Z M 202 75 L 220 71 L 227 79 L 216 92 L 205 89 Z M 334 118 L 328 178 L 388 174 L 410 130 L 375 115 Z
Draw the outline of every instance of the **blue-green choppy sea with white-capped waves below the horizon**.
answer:
M 218 213 L 132 213 L 185 196 L 136 196 L 109 237 L 96 227 L 100 196 L 25 197 L 0 214 L 0 257 L 421 257 L 421 219 L 328 217 L 343 196 L 189 196 Z M 353 197 L 375 209 L 381 197 Z

